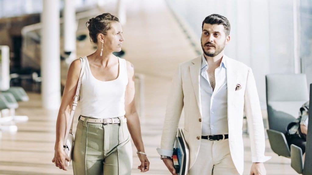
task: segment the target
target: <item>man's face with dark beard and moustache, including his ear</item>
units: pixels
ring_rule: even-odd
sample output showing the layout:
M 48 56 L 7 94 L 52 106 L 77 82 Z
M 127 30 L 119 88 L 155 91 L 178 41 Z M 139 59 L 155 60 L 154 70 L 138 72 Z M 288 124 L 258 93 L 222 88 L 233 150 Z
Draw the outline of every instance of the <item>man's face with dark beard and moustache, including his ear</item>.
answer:
M 202 51 L 209 57 L 220 54 L 225 45 L 230 41 L 230 36 L 226 36 L 223 25 L 204 24 L 202 29 Z

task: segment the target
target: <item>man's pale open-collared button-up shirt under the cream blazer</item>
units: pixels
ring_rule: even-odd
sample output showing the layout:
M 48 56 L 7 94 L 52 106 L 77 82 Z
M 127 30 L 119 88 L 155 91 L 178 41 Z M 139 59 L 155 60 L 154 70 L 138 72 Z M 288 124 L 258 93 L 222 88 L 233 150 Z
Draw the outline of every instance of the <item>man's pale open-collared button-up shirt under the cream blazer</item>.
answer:
M 215 69 L 215 88 L 209 81 L 207 61 L 202 55 L 200 97 L 202 103 L 202 135 L 228 134 L 227 124 L 227 67 L 225 58 Z

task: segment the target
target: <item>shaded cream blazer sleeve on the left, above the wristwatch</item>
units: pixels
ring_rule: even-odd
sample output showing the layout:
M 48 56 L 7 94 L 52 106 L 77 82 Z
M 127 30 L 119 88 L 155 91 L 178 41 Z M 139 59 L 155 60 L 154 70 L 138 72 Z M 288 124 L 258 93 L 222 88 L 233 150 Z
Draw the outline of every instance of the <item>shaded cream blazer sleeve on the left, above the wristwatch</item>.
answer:
M 172 156 L 173 154 L 172 150 L 183 109 L 183 97 L 181 68 L 179 65 L 173 75 L 171 89 L 167 100 L 160 149 L 157 149 L 158 154 L 160 155 Z

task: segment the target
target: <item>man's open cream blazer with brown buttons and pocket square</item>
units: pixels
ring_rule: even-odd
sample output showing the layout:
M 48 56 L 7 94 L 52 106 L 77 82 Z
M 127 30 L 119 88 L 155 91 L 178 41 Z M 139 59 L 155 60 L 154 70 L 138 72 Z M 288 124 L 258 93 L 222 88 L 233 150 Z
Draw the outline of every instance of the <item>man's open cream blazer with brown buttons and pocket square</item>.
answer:
M 256 82 L 251 68 L 227 56 L 227 121 L 229 147 L 238 173 L 244 169 L 242 138 L 245 111 L 251 141 L 252 162 L 265 162 L 265 136 Z M 202 135 L 202 109 L 200 97 L 200 68 L 202 55 L 179 64 L 173 76 L 167 101 L 166 116 L 161 138 L 161 149 L 172 150 L 178 131 L 178 123 L 184 107 L 184 136 L 190 153 L 189 169 L 193 166 Z

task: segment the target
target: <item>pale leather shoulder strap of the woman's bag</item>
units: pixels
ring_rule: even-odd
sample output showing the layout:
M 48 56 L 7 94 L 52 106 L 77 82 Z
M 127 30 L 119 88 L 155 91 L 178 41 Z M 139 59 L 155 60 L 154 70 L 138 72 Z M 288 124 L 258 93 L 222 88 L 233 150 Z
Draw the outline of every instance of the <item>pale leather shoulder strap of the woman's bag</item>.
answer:
M 76 89 L 76 95 L 74 96 L 74 102 L 71 108 L 71 115 L 69 117 L 69 121 L 66 127 L 66 132 L 65 132 L 65 137 L 64 137 L 64 141 L 63 141 L 63 145 L 64 147 L 66 147 L 66 142 L 68 139 L 68 135 L 69 133 L 72 133 L 72 129 L 73 129 L 73 119 L 74 119 L 74 113 L 78 104 L 78 100 L 79 100 L 79 92 L 80 92 L 80 85 L 81 85 L 81 80 L 82 80 L 82 75 L 85 71 L 85 60 L 82 58 L 79 58 L 81 61 L 81 70 L 80 70 L 80 75 L 79 75 L 79 79 L 78 79 L 78 84 L 77 84 L 77 89 Z

